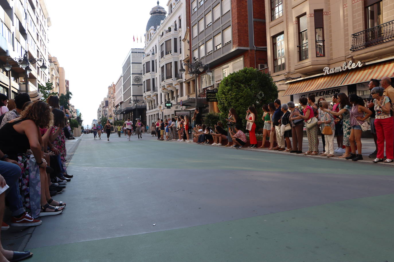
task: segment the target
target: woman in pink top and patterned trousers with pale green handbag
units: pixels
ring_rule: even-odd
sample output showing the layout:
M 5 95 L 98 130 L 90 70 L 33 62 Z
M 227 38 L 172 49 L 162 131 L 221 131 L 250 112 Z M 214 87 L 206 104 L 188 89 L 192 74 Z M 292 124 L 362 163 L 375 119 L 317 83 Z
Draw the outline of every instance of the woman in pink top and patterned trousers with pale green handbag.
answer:
M 301 117 L 307 122 L 309 119 L 314 117 L 314 112 L 312 108 L 308 105 L 308 99 L 306 97 L 301 97 L 299 103 L 303 108 L 303 115 L 299 112 L 294 111 L 294 115 Z M 312 128 L 307 128 L 308 137 L 308 151 L 304 155 L 316 156 L 318 154 L 318 127 L 317 125 Z

